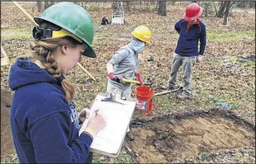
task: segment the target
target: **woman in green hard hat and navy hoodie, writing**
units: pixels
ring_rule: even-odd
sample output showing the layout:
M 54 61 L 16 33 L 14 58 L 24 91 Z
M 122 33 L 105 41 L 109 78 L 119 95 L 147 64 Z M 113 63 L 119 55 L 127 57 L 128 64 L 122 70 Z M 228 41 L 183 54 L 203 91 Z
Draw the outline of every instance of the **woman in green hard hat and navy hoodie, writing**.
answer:
M 19 57 L 8 79 L 15 91 L 10 125 L 19 162 L 91 163 L 90 145 L 106 122 L 93 114 L 79 136 L 90 111 L 76 112 L 75 88 L 64 74 L 81 54 L 96 57 L 92 18 L 79 5 L 59 2 L 34 19 L 39 25 L 30 44 L 34 57 Z

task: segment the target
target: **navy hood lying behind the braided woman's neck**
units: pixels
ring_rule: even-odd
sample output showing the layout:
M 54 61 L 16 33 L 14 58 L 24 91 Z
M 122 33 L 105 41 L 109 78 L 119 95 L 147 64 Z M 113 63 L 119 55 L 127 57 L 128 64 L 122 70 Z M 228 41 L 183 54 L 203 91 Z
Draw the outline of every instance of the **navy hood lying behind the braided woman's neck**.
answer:
M 29 57 L 19 57 L 10 68 L 8 83 L 13 91 L 25 85 L 41 82 L 56 83 L 57 80 L 46 70 L 30 61 Z

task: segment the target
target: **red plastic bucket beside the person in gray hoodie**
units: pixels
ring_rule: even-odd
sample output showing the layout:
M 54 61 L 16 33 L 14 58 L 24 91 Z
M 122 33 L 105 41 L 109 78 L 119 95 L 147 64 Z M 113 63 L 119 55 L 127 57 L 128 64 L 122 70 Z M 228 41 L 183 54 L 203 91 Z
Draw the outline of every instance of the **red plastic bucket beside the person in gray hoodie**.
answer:
M 150 87 L 143 85 L 137 87 L 136 93 L 136 111 L 140 113 L 150 113 L 153 107 L 153 95 L 155 94 L 154 88 L 149 91 Z

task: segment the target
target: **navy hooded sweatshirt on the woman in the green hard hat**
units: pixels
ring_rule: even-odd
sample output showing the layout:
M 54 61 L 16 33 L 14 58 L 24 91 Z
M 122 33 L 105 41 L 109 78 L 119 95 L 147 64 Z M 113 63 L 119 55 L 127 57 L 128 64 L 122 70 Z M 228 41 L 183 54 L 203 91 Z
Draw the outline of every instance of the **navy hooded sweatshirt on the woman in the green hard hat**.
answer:
M 13 142 L 20 163 L 90 163 L 92 138 L 82 133 L 73 103 L 47 71 L 27 58 L 10 69 L 15 91 L 10 110 Z M 70 107 L 73 108 L 70 108 Z

